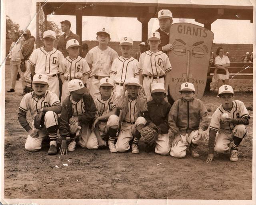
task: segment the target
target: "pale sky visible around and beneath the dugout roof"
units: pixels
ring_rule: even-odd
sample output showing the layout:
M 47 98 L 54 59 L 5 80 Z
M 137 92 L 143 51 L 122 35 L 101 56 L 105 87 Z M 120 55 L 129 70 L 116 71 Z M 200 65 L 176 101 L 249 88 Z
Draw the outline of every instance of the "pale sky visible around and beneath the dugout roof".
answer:
M 36 36 L 36 0 L 5 0 L 4 3 L 6 15 L 10 16 L 14 23 L 19 24 L 21 29 L 28 28 L 32 35 Z M 75 16 L 48 15 L 47 20 L 55 22 L 59 27 L 62 20 L 69 20 L 72 24 L 72 32 L 76 33 Z M 173 20 L 173 23 L 177 22 L 203 26 L 194 19 Z M 82 40 L 96 40 L 96 32 L 103 27 L 110 30 L 111 41 L 119 41 L 124 35 L 130 35 L 134 41 L 141 41 L 141 23 L 136 18 L 92 16 L 82 18 Z M 158 20 L 152 18 L 148 23 L 148 34 L 158 28 Z M 216 20 L 211 30 L 214 33 L 214 43 L 253 43 L 254 41 L 255 27 L 249 20 Z

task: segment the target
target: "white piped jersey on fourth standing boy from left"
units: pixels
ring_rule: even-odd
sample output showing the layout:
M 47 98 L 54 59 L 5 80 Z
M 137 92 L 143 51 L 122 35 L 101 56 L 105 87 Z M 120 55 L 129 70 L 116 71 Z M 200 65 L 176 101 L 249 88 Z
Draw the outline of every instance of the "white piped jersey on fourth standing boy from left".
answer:
M 124 83 L 131 77 L 139 77 L 138 61 L 133 58 L 124 58 L 122 56 L 114 59 L 111 69 L 110 78 L 115 83 Z

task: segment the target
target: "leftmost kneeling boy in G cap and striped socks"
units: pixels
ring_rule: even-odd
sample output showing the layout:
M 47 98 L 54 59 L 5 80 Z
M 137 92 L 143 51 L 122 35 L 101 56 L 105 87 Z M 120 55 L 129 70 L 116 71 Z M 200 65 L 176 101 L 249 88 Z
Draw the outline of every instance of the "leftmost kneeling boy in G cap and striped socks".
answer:
M 49 136 L 49 155 L 57 154 L 56 136 L 58 130 L 58 116 L 61 112 L 61 104 L 58 96 L 48 91 L 48 77 L 45 74 L 36 74 L 33 77 L 32 87 L 34 91 L 24 95 L 20 102 L 18 120 L 21 126 L 28 132 L 25 149 L 30 152 L 38 151 L 42 148 L 42 141 Z M 33 122 L 28 123 L 26 114 L 31 112 Z M 44 123 L 42 128 L 34 128 L 34 118 L 39 112 L 44 112 Z

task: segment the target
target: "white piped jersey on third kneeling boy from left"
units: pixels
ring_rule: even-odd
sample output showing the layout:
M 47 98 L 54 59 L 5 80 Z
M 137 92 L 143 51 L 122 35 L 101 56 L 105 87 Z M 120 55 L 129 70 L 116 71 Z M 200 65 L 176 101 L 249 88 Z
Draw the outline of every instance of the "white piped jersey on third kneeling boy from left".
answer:
M 118 93 L 112 92 L 110 98 L 106 101 L 102 100 L 101 97 L 97 97 L 94 101 L 96 105 L 97 112 L 95 114 L 95 119 L 99 116 L 107 114 L 112 111 L 116 107 L 116 102 L 120 99 L 120 95 Z

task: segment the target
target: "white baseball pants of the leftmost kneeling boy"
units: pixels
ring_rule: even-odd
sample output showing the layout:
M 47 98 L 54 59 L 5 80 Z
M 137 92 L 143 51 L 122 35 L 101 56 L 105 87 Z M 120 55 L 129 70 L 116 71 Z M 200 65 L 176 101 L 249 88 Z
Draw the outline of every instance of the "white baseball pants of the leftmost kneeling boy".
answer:
M 46 138 L 49 133 L 47 131 L 47 128 L 58 125 L 58 116 L 53 111 L 48 111 L 44 115 L 44 126 L 41 129 L 38 129 L 38 137 L 32 138 L 30 135 L 28 135 L 28 138 L 25 143 L 25 149 L 30 152 L 36 152 L 42 148 L 42 142 L 44 138 Z M 34 130 L 34 120 L 32 121 L 31 128 Z M 57 133 L 56 133 L 57 134 Z M 55 138 L 56 138 L 55 134 Z M 51 136 L 49 135 L 49 138 L 51 139 Z

